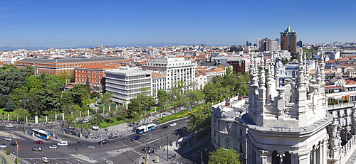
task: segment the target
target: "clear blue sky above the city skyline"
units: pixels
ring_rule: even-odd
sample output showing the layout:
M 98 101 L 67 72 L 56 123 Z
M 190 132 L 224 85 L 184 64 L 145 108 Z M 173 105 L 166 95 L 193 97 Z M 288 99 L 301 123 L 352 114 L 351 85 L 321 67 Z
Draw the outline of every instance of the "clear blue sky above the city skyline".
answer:
M 6 0 L 0 47 L 205 43 L 278 38 L 288 24 L 303 43 L 356 41 L 356 1 Z

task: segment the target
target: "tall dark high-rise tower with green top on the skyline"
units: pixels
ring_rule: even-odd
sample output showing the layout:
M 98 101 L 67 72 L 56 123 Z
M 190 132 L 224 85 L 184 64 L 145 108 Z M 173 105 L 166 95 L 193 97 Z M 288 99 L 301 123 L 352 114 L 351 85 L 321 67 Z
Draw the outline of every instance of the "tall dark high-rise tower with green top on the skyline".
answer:
M 297 32 L 288 28 L 281 32 L 281 49 L 289 50 L 290 55 L 295 55 L 297 53 Z

